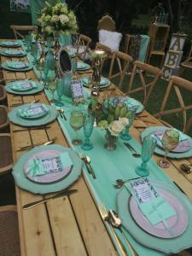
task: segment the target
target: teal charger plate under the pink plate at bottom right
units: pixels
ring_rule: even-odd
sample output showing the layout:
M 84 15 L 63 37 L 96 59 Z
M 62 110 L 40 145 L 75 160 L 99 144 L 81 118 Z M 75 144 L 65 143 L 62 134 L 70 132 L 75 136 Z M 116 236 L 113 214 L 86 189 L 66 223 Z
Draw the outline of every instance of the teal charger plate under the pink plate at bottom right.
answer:
M 125 186 L 119 191 L 117 195 L 117 205 L 119 218 L 122 220 L 122 225 L 131 234 L 131 236 L 144 247 L 149 247 L 162 253 L 178 253 L 185 248 L 192 247 L 191 231 L 192 231 L 192 203 L 186 195 L 183 195 L 172 184 L 166 182 L 155 181 L 154 185 L 158 188 L 166 189 L 183 204 L 183 208 L 188 213 L 188 227 L 181 236 L 172 239 L 162 239 L 156 236 L 149 235 L 142 230 L 131 217 L 129 211 L 129 200 L 131 194 Z M 147 255 L 144 253 L 143 256 Z M 152 254 L 151 254 L 152 255 Z

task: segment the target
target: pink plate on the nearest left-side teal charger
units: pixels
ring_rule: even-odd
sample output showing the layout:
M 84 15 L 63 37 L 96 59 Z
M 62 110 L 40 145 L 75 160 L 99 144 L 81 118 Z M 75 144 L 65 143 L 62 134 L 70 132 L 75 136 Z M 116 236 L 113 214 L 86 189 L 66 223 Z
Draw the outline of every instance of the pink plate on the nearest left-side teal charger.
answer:
M 62 178 L 66 177 L 69 172 L 72 170 L 72 166 L 69 166 L 67 168 L 64 168 L 61 172 L 54 172 L 54 173 L 48 173 L 44 174 L 41 176 L 36 176 L 36 177 L 31 177 L 30 174 L 27 172 L 28 168 L 28 161 L 33 160 L 35 158 L 44 158 L 44 157 L 55 157 L 61 154 L 61 151 L 58 150 L 43 150 L 41 152 L 38 152 L 36 154 L 33 154 L 27 161 L 26 164 L 24 165 L 24 172 L 26 174 L 26 177 L 30 179 L 31 181 L 35 183 L 54 183 Z

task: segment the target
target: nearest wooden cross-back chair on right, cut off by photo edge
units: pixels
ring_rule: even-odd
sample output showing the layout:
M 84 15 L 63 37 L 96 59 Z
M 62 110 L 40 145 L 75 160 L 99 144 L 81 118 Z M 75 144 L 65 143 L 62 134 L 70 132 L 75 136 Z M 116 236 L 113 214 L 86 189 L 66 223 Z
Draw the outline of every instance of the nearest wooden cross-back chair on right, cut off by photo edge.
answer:
M 179 107 L 174 104 L 169 109 L 166 109 L 167 102 L 171 102 L 171 97 L 173 96 L 173 91 L 175 91 L 175 94 L 177 96 L 177 102 L 174 99 L 174 103 L 178 103 Z M 188 91 L 189 94 L 192 96 L 192 82 L 182 79 L 176 76 L 170 76 L 170 81 L 169 84 L 166 87 L 166 94 L 163 98 L 163 101 L 160 106 L 160 112 L 154 114 L 156 118 L 159 118 L 161 120 L 162 117 L 166 115 L 171 115 L 172 113 L 182 113 L 183 116 L 183 131 L 189 131 L 189 127 L 192 124 L 192 117 L 189 118 L 187 121 L 187 111 L 192 109 L 192 104 L 191 102 L 185 104 L 184 98 L 183 98 L 183 91 Z M 169 104 L 170 105 L 170 104 Z M 190 115 L 191 116 L 191 115 Z M 164 122 L 166 125 L 169 125 L 172 127 L 172 125 L 168 124 L 164 120 L 161 120 Z

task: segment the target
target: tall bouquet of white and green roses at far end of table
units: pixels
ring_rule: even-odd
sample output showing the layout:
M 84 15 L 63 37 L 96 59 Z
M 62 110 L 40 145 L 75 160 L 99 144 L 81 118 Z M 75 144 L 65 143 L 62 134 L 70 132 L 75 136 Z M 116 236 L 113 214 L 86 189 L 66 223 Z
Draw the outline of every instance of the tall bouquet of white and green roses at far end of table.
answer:
M 45 2 L 38 19 L 43 31 L 47 34 L 65 33 L 67 35 L 77 32 L 78 25 L 72 10 L 67 8 L 67 3 L 56 3 L 52 6 Z

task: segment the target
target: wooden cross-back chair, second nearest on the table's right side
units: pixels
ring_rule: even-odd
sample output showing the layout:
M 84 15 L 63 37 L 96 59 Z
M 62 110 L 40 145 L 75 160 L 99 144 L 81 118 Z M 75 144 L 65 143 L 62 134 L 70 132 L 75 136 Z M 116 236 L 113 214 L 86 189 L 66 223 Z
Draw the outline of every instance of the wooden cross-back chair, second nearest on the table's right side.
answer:
M 148 97 L 151 94 L 151 91 L 154 88 L 154 85 L 157 83 L 158 79 L 162 74 L 162 71 L 158 67 L 151 66 L 142 61 L 134 61 L 134 66 L 131 72 L 131 78 L 128 85 L 127 95 L 131 96 L 131 94 L 136 93 L 137 91 L 143 90 L 143 105 L 146 106 L 148 102 Z M 148 81 L 148 74 L 154 76 L 153 79 Z M 133 88 L 133 83 L 136 77 L 139 77 L 141 84 L 137 86 L 137 88 Z M 147 91 L 147 89 L 149 90 Z

